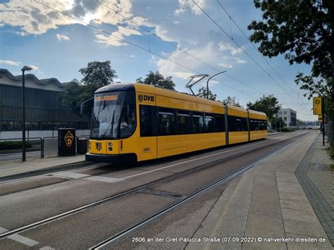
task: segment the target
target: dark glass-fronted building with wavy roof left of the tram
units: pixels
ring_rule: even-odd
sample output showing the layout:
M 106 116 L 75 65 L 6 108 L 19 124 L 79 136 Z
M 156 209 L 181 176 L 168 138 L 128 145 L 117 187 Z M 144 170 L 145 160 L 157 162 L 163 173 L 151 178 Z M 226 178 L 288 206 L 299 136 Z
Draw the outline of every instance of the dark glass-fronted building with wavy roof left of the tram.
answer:
M 88 135 L 90 118 L 79 117 L 63 106 L 58 94 L 66 83 L 56 78 L 39 80 L 25 75 L 25 120 L 27 136 L 57 135 L 58 127 L 74 127 Z M 22 75 L 0 68 L 0 139 L 22 137 Z M 84 131 L 85 130 L 85 131 Z

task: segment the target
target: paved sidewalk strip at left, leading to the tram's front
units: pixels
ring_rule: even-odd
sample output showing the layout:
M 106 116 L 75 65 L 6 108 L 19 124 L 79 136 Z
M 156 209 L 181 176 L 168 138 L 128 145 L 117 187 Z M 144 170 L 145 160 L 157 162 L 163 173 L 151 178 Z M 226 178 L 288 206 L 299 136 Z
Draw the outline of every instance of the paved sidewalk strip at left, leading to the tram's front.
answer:
M 70 164 L 70 165 L 68 165 Z M 27 161 L 0 161 L 0 181 L 7 180 L 11 176 L 26 177 L 34 173 L 47 173 L 48 170 L 61 170 L 63 165 L 80 165 L 85 163 L 85 155 L 49 157 L 49 158 L 27 158 Z

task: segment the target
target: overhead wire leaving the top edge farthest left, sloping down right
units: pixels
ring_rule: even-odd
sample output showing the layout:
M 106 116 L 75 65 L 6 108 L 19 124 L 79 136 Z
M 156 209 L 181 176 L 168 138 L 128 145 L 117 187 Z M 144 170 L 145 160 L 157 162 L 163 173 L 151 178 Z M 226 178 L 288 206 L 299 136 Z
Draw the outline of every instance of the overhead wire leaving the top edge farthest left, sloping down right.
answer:
M 63 15 L 66 15 L 68 18 L 71 18 L 71 19 L 73 19 L 73 20 L 76 20 L 76 21 L 78 21 L 79 23 L 83 23 L 84 25 L 87 25 L 87 26 L 89 26 L 89 27 L 92 27 L 92 28 L 94 28 L 95 30 L 98 30 L 99 32 L 103 32 L 103 33 L 105 33 L 105 34 L 107 34 L 107 35 L 110 35 L 111 37 L 116 37 L 116 38 L 119 39 L 120 41 L 123 41 L 123 42 L 125 42 L 125 43 L 127 43 L 127 44 L 130 44 L 130 45 L 132 45 L 132 46 L 135 46 L 135 47 L 138 48 L 138 49 L 142 49 L 142 50 L 144 50 L 144 51 L 147 51 L 147 52 L 150 53 L 150 54 L 154 54 L 154 56 L 159 56 L 160 58 L 163 58 L 163 59 L 166 60 L 166 61 L 169 61 L 169 62 L 171 62 L 171 63 L 175 63 L 176 65 L 179 65 L 179 66 L 181 66 L 181 67 L 183 67 L 183 68 L 186 68 L 187 70 L 191 70 L 191 71 L 194 72 L 194 73 L 201 74 L 201 73 L 199 73 L 197 70 L 194 70 L 194 69 L 192 69 L 192 68 L 189 68 L 189 67 L 187 67 L 186 65 L 183 65 L 183 64 L 181 64 L 181 63 L 177 63 L 177 62 L 175 62 L 175 61 L 173 61 L 173 60 L 171 60 L 171 59 L 169 59 L 169 58 L 166 58 L 165 56 L 161 56 L 161 55 L 159 55 L 159 54 L 156 54 L 155 52 L 150 51 L 149 49 L 146 49 L 146 48 L 144 48 L 143 46 L 140 46 L 140 45 L 135 44 L 135 43 L 133 43 L 133 42 L 130 42 L 130 41 L 126 40 L 126 39 L 123 39 L 123 38 L 121 38 L 121 37 L 118 37 L 118 36 L 116 36 L 116 35 L 113 35 L 113 34 L 111 34 L 110 32 L 107 32 L 106 30 L 100 29 L 99 27 L 96 27 L 96 26 L 91 25 L 91 24 L 89 24 L 89 23 L 87 23 L 87 22 L 85 22 L 85 21 L 82 21 L 82 20 L 80 20 L 80 19 L 78 19 L 78 18 L 75 18 L 75 17 L 73 17 L 72 15 L 68 15 L 67 13 L 64 13 L 63 11 L 59 11 L 59 10 L 57 10 L 56 8 L 52 8 L 51 6 L 48 6 L 47 4 L 43 4 L 42 2 L 39 2 L 39 1 L 37 1 L 37 0 L 35 0 L 35 2 L 36 2 L 37 4 L 41 4 L 42 6 L 44 6 L 44 7 L 46 7 L 46 8 L 49 8 L 49 9 L 53 10 L 53 11 L 56 11 L 56 12 L 61 13 L 61 14 L 63 14 Z M 152 33 L 152 34 L 153 34 L 153 33 Z M 214 79 L 214 80 L 215 80 L 215 79 Z M 216 80 L 216 82 L 219 82 L 219 81 Z M 223 82 L 219 82 L 219 83 L 221 83 L 222 85 L 225 85 Z M 242 94 L 245 94 L 244 92 L 240 91 L 239 89 L 235 89 L 235 88 L 233 88 L 233 87 L 230 87 L 229 85 L 225 85 L 225 86 L 229 87 L 230 89 L 234 89 L 234 90 L 237 91 L 237 92 L 240 92 L 240 93 L 242 93 Z M 247 94 L 247 96 L 251 96 L 251 95 Z M 251 97 L 255 99 L 254 96 L 251 96 Z

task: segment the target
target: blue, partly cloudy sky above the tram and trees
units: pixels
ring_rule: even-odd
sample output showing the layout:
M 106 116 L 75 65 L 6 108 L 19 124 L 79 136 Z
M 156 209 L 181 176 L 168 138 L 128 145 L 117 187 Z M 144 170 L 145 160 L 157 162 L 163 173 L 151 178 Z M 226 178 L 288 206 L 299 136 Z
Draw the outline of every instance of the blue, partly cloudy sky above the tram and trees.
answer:
M 190 75 L 226 70 L 209 83 L 219 100 L 235 96 L 246 108 L 273 94 L 297 119 L 316 120 L 294 81 L 311 68 L 261 56 L 247 39 L 252 20 L 261 20 L 261 11 L 250 0 L 0 0 L 0 68 L 20 75 L 31 65 L 39 79 L 69 82 L 82 79 L 88 62 L 109 60 L 115 81 L 159 70 L 189 93 Z

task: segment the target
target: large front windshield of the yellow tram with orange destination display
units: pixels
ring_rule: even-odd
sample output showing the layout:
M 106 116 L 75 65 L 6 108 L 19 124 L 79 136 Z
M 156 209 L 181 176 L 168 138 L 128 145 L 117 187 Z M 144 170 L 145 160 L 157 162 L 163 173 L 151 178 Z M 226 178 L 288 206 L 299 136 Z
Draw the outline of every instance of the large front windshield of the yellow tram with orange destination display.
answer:
M 135 131 L 135 125 L 134 93 L 123 91 L 95 94 L 92 139 L 129 137 Z

